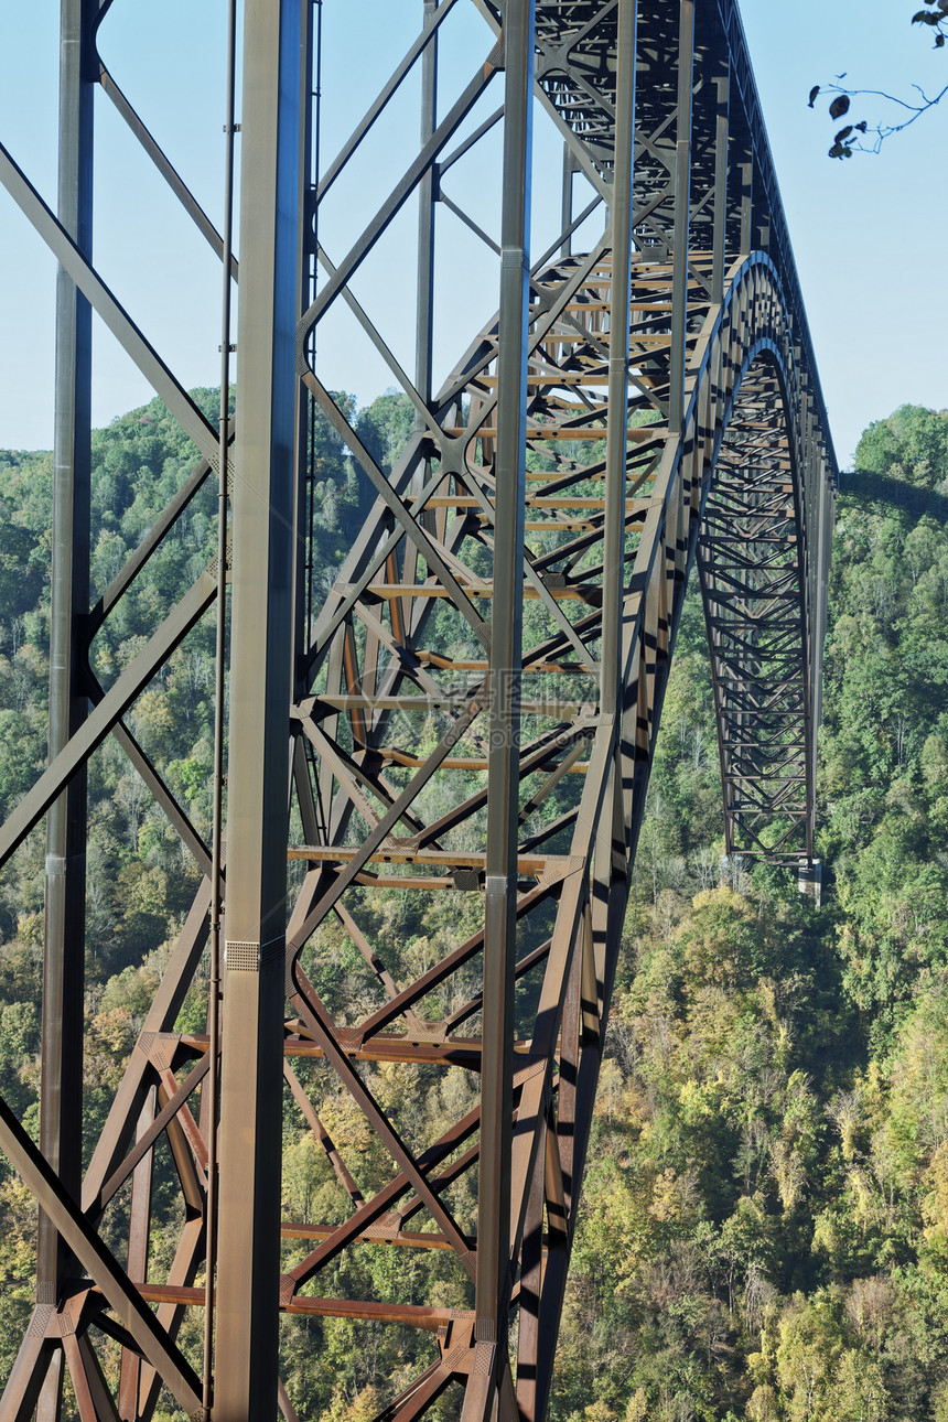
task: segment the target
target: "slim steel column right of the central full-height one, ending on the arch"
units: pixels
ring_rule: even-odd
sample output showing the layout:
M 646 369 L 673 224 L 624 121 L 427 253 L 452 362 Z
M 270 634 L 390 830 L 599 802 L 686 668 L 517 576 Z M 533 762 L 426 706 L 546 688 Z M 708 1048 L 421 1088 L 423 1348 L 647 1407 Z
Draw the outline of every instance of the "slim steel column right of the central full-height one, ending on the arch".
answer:
M 605 432 L 605 528 L 603 536 L 603 643 L 600 702 L 621 714 L 621 610 L 628 461 L 628 317 L 632 246 L 632 149 L 635 129 L 635 0 L 618 0 L 615 54 L 615 165 L 613 168 L 613 282 L 610 293 L 608 425 Z

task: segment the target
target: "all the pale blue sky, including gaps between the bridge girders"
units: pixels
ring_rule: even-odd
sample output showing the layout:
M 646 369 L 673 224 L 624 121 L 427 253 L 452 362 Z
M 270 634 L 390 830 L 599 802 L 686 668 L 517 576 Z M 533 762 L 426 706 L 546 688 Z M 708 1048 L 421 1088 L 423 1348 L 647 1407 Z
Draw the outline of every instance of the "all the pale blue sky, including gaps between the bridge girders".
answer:
M 448 82 L 470 73 L 483 28 L 462 0 L 445 30 Z M 220 13 L 219 13 L 220 11 Z M 392 67 L 418 23 L 418 0 L 325 0 L 324 155 L 331 156 L 361 100 Z M 891 138 L 878 158 L 831 162 L 826 149 L 836 125 L 826 108 L 810 111 L 816 82 L 847 71 L 847 82 L 907 94 L 912 82 L 930 91 L 948 82 L 948 51 L 932 53 L 931 37 L 910 26 L 912 0 L 743 0 L 742 13 L 765 118 L 780 179 L 790 235 L 807 304 L 831 429 L 849 466 L 861 429 L 911 401 L 948 405 L 948 282 L 941 266 L 948 219 L 944 111 L 921 118 Z M 0 0 L 0 141 L 47 198 L 55 196 L 55 0 Z M 344 27 L 358 33 L 358 64 L 335 60 Z M 118 82 L 153 128 L 212 215 L 219 212 L 223 161 L 223 6 L 163 0 L 141 6 L 115 0 L 102 30 L 102 54 Z M 445 94 L 445 101 L 451 95 Z M 401 139 L 367 154 L 375 176 L 401 164 L 416 132 L 414 91 L 399 111 Z M 485 112 L 496 102 L 490 95 Z M 853 114 L 885 117 L 880 101 L 854 101 Z M 556 145 L 543 124 L 536 134 L 534 243 L 559 182 Z M 493 155 L 496 158 L 496 154 Z M 401 171 L 401 169 L 399 169 Z M 549 178 L 549 182 L 547 182 Z M 479 185 L 483 225 L 495 230 L 496 182 L 492 154 L 472 156 L 455 173 L 455 192 Z M 340 189 L 327 210 L 323 240 L 338 257 L 358 228 L 358 188 Z M 414 216 L 395 225 L 388 245 L 360 276 L 392 344 L 411 324 L 414 284 L 402 279 L 398 243 L 408 242 Z M 495 269 L 475 237 L 449 213 L 439 215 L 441 368 L 475 336 L 496 307 Z M 105 280 L 139 320 L 182 384 L 215 384 L 219 344 L 217 266 L 203 240 L 166 201 L 161 181 L 124 125 L 97 97 L 95 260 Z M 392 280 L 392 272 L 399 279 Z M 43 448 L 53 425 L 53 296 L 55 269 L 13 202 L 0 192 L 0 447 Z M 348 346 L 345 319 L 321 334 L 337 368 L 327 383 L 345 385 L 362 402 L 391 384 L 358 343 Z M 108 333 L 97 327 L 94 418 L 105 424 L 149 398 L 149 390 Z

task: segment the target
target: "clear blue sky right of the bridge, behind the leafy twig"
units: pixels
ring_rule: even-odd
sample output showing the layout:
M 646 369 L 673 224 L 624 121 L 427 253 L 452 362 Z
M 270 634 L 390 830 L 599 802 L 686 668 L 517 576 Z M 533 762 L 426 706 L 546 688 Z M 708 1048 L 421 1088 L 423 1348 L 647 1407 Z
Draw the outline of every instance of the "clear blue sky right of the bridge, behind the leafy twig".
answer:
M 878 156 L 826 158 L 836 124 L 813 111 L 813 84 L 846 82 L 907 97 L 912 84 L 948 84 L 948 50 L 910 24 L 908 0 L 742 0 L 748 41 L 775 155 L 830 425 L 843 468 L 858 435 L 901 404 L 948 405 L 948 226 L 941 107 Z M 870 122 L 895 111 L 853 100 Z M 948 472 L 948 471 L 947 471 Z

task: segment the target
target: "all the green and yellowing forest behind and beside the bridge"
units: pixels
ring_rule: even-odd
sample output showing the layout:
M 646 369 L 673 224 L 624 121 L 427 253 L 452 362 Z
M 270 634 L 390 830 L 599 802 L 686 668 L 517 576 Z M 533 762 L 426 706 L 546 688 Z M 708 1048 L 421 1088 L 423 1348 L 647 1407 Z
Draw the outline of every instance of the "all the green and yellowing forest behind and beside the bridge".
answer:
M 216 392 L 198 398 L 210 415 Z M 397 395 L 358 414 L 389 468 L 409 428 Z M 358 525 L 360 489 L 327 427 L 317 451 L 316 563 L 328 579 Z M 94 599 L 192 458 L 159 401 L 97 432 Z M 834 535 L 819 910 L 786 870 L 722 860 L 696 592 L 685 607 L 624 930 L 556 1422 L 948 1422 L 948 412 L 903 407 L 868 428 L 856 465 Z M 0 454 L 0 816 L 45 757 L 50 508 L 51 456 Z M 206 491 L 98 633 L 102 685 L 213 542 Z M 212 658 L 208 621 L 131 714 L 203 833 Z M 108 742 L 91 762 L 90 801 L 91 1143 L 198 870 Z M 0 875 L 0 1091 L 34 1133 L 43 855 L 34 833 Z M 466 931 L 446 912 L 406 923 L 392 907 L 374 920 L 394 963 L 424 956 L 428 940 L 446 951 Z M 344 995 L 345 944 L 323 930 L 316 950 Z M 199 983 L 182 1030 L 202 1014 Z M 448 1095 L 470 1088 L 453 1069 L 441 1082 L 442 1095 L 414 1109 L 456 1116 Z M 397 1101 L 405 1088 L 391 1071 L 374 1089 Z M 325 1115 L 371 1185 L 365 1122 L 341 1096 Z M 338 1187 L 294 1129 L 286 1209 L 335 1219 Z M 463 1217 L 465 1202 L 455 1206 Z M 0 1379 L 31 1308 L 34 1229 L 27 1192 L 0 1159 Z M 152 1257 L 166 1247 L 156 1231 Z M 405 1253 L 361 1250 L 334 1285 L 453 1303 L 438 1253 Z M 419 1357 L 399 1330 L 379 1328 L 358 1351 L 348 1337 L 333 1320 L 287 1320 L 284 1375 L 301 1416 L 368 1422 Z M 182 1342 L 196 1340 L 195 1321 Z

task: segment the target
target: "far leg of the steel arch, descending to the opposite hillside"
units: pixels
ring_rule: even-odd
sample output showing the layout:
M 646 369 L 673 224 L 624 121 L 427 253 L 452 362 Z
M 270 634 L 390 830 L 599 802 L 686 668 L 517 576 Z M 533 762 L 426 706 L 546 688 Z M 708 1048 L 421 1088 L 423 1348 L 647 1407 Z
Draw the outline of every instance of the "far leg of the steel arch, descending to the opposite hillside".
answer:
M 806 866 L 813 859 L 826 617 L 817 569 L 831 526 L 831 489 L 809 447 L 806 418 L 793 415 L 806 398 L 777 272 L 762 253 L 733 270 L 738 304 L 748 280 L 759 289 L 752 336 L 733 374 L 696 539 L 725 852 Z

